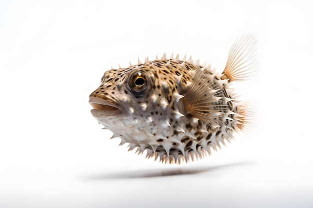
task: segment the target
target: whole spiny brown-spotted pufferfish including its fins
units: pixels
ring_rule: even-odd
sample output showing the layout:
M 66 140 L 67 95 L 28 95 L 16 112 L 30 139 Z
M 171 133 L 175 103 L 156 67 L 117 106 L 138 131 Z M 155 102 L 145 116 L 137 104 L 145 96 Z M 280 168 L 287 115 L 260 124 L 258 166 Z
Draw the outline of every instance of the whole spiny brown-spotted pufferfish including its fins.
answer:
M 120 145 L 146 158 L 170 164 L 201 159 L 249 127 L 253 113 L 231 85 L 253 75 L 255 51 L 254 36 L 238 37 L 221 73 L 191 57 L 165 54 L 108 70 L 89 96 L 91 114 Z

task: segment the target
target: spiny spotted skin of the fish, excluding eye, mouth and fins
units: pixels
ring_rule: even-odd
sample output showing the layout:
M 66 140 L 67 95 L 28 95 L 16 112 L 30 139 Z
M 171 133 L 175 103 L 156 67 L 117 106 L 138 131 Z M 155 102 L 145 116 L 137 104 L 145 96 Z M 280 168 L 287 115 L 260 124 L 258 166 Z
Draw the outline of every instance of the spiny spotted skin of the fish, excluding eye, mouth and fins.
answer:
M 148 158 L 180 163 L 211 154 L 210 148 L 216 150 L 220 144 L 225 145 L 225 140 L 232 139 L 238 122 L 234 113 L 236 102 L 226 101 L 232 93 L 228 83 L 221 83 L 221 74 L 207 67 L 205 73 L 214 75 L 212 86 L 218 90 L 215 96 L 221 98 L 212 108 L 226 115 L 222 118 L 223 125 L 212 128 L 190 114 L 183 115 L 177 96 L 184 95 L 199 68 L 203 66 L 191 61 L 162 58 L 108 70 L 90 97 L 116 104 L 121 113 L 106 116 L 97 112 L 93 116 L 114 133 L 113 137 L 121 138 L 121 145 L 129 143 L 129 150 L 146 152 Z M 141 95 L 128 87 L 128 75 L 133 70 L 144 71 L 149 76 L 149 87 Z

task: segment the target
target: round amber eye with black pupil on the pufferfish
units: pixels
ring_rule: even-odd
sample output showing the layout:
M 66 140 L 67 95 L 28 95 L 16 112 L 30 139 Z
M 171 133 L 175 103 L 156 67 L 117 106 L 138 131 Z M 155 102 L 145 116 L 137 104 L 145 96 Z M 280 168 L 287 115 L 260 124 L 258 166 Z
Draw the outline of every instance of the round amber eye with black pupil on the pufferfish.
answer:
M 129 77 L 129 87 L 134 93 L 142 93 L 148 86 L 147 75 L 143 71 L 135 71 Z

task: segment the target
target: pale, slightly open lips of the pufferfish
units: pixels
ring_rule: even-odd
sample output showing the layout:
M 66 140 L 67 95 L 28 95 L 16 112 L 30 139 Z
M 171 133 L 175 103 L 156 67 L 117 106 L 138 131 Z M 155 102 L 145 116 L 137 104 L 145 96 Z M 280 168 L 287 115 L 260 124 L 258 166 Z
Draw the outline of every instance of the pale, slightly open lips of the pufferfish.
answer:
M 93 107 L 90 112 L 94 117 L 113 116 L 121 113 L 120 108 L 111 100 L 90 97 L 89 104 Z

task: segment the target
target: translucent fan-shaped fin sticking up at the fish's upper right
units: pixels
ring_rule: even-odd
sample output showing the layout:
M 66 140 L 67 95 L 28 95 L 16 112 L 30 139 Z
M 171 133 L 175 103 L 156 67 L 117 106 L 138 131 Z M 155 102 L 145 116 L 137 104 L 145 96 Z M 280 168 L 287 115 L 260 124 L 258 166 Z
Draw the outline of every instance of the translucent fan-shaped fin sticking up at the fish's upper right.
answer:
M 231 46 L 221 79 L 244 81 L 255 72 L 256 39 L 252 35 L 238 37 Z

